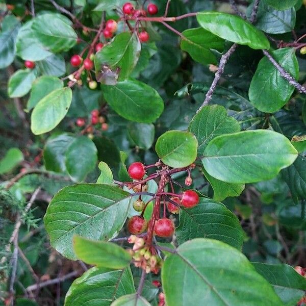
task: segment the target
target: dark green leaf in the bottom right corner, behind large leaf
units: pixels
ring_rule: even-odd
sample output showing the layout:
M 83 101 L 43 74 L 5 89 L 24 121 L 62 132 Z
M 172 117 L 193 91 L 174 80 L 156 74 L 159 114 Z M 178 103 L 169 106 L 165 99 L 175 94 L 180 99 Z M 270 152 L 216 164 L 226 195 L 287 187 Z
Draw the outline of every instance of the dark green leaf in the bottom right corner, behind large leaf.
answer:
M 306 279 L 299 275 L 291 266 L 252 263 L 260 273 L 273 286 L 276 294 L 285 305 L 295 305 L 306 290 Z

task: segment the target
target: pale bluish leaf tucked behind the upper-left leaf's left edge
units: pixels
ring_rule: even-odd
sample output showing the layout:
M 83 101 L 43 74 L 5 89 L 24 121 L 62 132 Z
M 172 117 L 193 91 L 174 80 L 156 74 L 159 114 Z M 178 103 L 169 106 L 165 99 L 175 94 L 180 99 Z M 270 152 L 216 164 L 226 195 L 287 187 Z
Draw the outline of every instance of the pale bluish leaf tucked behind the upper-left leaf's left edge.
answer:
M 23 60 L 41 61 L 52 55 L 42 46 L 32 30 L 34 19 L 24 23 L 18 32 L 16 40 L 17 55 Z

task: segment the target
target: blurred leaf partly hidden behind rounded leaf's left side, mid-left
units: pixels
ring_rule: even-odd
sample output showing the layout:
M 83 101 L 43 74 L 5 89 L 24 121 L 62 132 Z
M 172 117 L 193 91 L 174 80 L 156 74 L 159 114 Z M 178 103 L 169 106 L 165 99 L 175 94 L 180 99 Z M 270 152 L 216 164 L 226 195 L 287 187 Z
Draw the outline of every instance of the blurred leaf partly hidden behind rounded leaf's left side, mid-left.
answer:
M 46 170 L 65 172 L 66 151 L 75 139 L 73 134 L 64 133 L 48 138 L 43 150 L 43 159 Z

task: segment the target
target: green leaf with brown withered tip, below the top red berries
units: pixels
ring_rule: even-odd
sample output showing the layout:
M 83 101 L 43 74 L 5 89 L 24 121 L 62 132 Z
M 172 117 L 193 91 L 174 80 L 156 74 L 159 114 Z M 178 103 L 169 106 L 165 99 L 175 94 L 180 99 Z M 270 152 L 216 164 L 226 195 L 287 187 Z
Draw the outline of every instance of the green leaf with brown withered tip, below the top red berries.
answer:
M 99 73 L 103 66 L 108 66 L 112 70 L 120 68 L 119 81 L 124 80 L 136 66 L 140 50 L 140 41 L 136 34 L 120 33 L 96 54 L 95 69 Z

